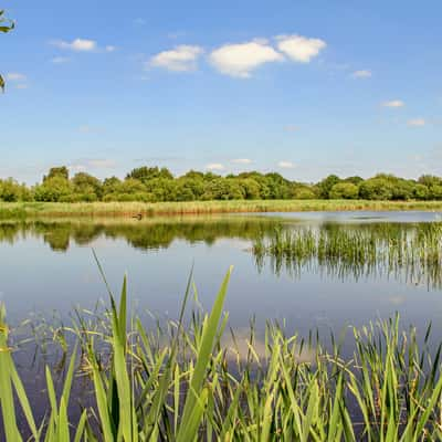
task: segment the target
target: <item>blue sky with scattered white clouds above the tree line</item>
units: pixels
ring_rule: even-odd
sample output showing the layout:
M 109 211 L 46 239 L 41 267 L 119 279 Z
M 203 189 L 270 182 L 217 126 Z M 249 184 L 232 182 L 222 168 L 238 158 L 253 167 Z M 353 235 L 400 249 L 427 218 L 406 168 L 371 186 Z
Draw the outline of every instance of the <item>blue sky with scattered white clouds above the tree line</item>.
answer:
M 0 177 L 442 175 L 440 0 L 3 0 Z

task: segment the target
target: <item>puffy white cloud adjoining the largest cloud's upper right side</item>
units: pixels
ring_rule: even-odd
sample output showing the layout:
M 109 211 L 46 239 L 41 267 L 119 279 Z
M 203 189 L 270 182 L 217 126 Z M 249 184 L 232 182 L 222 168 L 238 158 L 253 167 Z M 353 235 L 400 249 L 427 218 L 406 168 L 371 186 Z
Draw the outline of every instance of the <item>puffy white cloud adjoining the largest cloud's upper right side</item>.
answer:
M 299 63 L 309 63 L 327 46 L 324 40 L 308 39 L 302 35 L 278 35 L 276 41 L 281 52 Z

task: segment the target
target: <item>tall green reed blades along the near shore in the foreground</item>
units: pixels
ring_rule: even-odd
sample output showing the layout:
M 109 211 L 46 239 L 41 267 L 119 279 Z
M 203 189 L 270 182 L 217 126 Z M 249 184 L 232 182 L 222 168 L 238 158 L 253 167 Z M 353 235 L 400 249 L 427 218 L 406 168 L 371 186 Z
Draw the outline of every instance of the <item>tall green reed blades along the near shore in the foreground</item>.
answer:
M 146 329 L 127 311 L 124 281 L 103 317 L 78 314 L 65 329 L 71 345 L 65 382 L 55 392 L 46 368 L 50 409 L 35 422 L 18 376 L 4 308 L 0 311 L 0 404 L 7 442 L 23 440 L 21 408 L 33 441 L 434 441 L 442 438 L 441 346 L 421 346 L 399 318 L 354 329 L 354 355 L 341 339 L 304 340 L 269 323 L 260 345 L 253 323 L 245 349 L 225 341 L 223 304 L 231 271 L 210 314 Z M 197 296 L 196 294 L 193 294 Z M 327 345 L 326 345 L 327 344 Z M 327 350 L 328 348 L 328 350 Z M 82 364 L 77 362 L 77 350 Z M 95 406 L 70 422 L 71 388 L 87 376 Z

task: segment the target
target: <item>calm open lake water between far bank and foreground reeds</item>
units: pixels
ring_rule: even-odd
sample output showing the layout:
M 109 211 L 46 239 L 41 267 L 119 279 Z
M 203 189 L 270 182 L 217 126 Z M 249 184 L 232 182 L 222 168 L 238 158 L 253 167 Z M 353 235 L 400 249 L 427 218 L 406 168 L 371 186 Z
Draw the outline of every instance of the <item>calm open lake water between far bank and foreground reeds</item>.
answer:
M 0 223 L 0 299 L 8 319 L 32 314 L 66 317 L 74 307 L 93 308 L 107 299 L 94 250 L 110 287 L 118 293 L 128 275 L 130 303 L 137 312 L 176 318 L 187 278 L 200 303 L 210 308 L 223 275 L 233 265 L 227 297 L 230 326 L 246 328 L 255 317 L 285 320 L 288 329 L 328 333 L 365 325 L 398 312 L 402 324 L 442 330 L 440 290 L 403 277 L 339 277 L 303 269 L 299 274 L 272 265 L 259 266 L 252 242 L 277 225 L 367 225 L 439 221 L 429 212 L 322 212 L 186 217 L 145 220 L 51 220 Z

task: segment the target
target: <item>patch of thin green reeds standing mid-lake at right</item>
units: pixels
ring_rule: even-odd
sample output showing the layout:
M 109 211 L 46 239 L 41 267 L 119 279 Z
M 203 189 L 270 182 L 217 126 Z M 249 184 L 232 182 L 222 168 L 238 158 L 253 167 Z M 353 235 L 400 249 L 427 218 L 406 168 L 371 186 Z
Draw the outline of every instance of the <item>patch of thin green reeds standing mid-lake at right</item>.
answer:
M 442 223 L 324 225 L 262 234 L 252 248 L 260 269 L 301 275 L 304 270 L 356 280 L 403 277 L 429 288 L 442 287 Z

